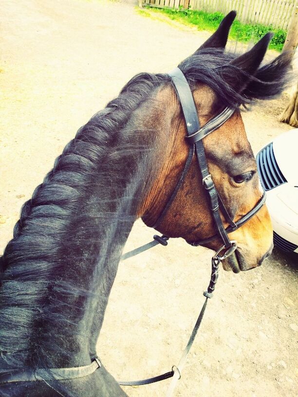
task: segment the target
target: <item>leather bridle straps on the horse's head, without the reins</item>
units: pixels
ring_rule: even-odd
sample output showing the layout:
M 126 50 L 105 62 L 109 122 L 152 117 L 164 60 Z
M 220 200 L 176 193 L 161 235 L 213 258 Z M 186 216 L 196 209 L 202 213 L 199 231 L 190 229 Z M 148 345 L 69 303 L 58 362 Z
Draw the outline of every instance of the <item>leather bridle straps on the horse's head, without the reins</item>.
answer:
M 205 138 L 205 136 L 209 135 L 211 132 L 215 131 L 217 128 L 222 126 L 232 116 L 232 114 L 234 113 L 234 109 L 231 108 L 223 109 L 223 111 L 220 114 L 213 117 L 205 124 L 205 126 L 201 127 L 197 108 L 195 106 L 193 96 L 190 87 L 187 83 L 185 75 L 183 74 L 183 72 L 181 72 L 179 68 L 175 68 L 173 71 L 169 72 L 168 74 L 172 79 L 172 83 L 175 87 L 175 90 L 177 92 L 182 107 L 182 111 L 186 123 L 186 131 L 187 131 L 186 142 L 189 144 L 189 152 L 185 163 L 185 167 L 175 186 L 175 189 L 173 190 L 166 206 L 164 207 L 163 211 L 156 220 L 155 224 L 152 225 L 152 227 L 153 228 L 158 227 L 158 225 L 165 217 L 169 207 L 174 201 L 178 193 L 178 190 L 180 189 L 186 177 L 186 174 L 190 168 L 192 158 L 194 154 L 196 154 L 199 170 L 202 178 L 202 184 L 208 196 L 209 210 L 212 214 L 216 235 L 208 237 L 204 240 L 187 241 L 187 243 L 193 246 L 204 245 L 219 237 L 223 242 L 223 246 L 218 251 L 218 254 L 220 254 L 223 250 L 225 250 L 223 256 L 221 256 L 221 259 L 223 259 L 224 257 L 231 255 L 237 248 L 237 242 L 235 240 L 231 241 L 229 239 L 228 234 L 239 229 L 245 222 L 247 222 L 261 209 L 266 199 L 265 192 L 263 193 L 258 203 L 246 215 L 240 218 L 237 222 L 234 222 L 233 218 L 230 217 L 227 209 L 225 208 L 223 204 L 223 200 L 221 199 L 221 196 L 214 185 L 212 176 L 208 171 L 205 149 L 203 144 L 203 138 Z M 226 229 L 223 226 L 223 221 L 220 216 L 220 210 L 223 214 L 223 217 L 229 224 L 229 226 Z

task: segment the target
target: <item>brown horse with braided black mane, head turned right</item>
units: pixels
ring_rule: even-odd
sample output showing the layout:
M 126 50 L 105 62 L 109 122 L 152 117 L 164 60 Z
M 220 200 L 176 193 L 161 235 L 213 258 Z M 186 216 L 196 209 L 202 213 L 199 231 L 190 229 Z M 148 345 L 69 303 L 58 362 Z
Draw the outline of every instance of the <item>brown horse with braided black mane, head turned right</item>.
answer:
M 212 176 L 225 208 L 212 211 L 223 233 L 237 241 L 223 268 L 237 273 L 261 265 L 273 235 L 265 205 L 240 228 L 228 229 L 229 219 L 239 222 L 262 199 L 240 107 L 278 95 L 290 60 L 281 54 L 261 66 L 271 34 L 244 54 L 226 51 L 235 16 L 223 18 L 178 69 L 201 126 L 232 110 L 200 142 L 205 182 Z M 188 123 L 173 80 L 168 73 L 134 76 L 78 130 L 24 203 L 0 258 L 0 396 L 127 396 L 99 361 L 96 342 L 137 218 L 168 237 L 221 250 L 209 185 L 197 158 L 188 158 L 193 144 L 185 138 Z

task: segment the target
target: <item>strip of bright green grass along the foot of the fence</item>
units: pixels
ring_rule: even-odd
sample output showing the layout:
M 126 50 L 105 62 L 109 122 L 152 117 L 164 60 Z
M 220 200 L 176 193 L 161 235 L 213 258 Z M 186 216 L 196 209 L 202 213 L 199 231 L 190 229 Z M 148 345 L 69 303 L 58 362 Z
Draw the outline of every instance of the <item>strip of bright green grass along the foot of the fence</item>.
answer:
M 150 12 L 148 11 L 150 9 Z M 138 10 L 138 12 L 147 17 L 152 17 L 152 15 L 164 15 L 171 20 L 183 23 L 188 26 L 195 26 L 198 30 L 207 30 L 214 32 L 224 15 L 219 12 L 207 13 L 205 11 L 193 11 L 175 8 L 152 8 L 146 7 L 143 10 Z M 262 36 L 267 32 L 273 32 L 274 36 L 270 42 L 269 48 L 277 51 L 281 51 L 285 38 L 286 31 L 282 29 L 275 29 L 272 26 L 264 26 L 259 23 L 255 24 L 245 24 L 237 19 L 234 21 L 229 37 L 241 41 L 247 42 L 253 40 L 257 42 Z

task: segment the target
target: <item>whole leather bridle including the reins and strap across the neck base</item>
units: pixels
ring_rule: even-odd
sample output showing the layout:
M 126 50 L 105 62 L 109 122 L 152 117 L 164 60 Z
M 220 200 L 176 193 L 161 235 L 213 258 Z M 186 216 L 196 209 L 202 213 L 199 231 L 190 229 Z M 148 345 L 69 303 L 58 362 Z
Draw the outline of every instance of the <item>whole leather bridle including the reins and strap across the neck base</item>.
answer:
M 230 240 L 228 234 L 239 229 L 245 222 L 247 222 L 251 217 L 253 217 L 261 209 L 262 205 L 265 202 L 265 192 L 264 192 L 258 203 L 237 222 L 234 222 L 232 217 L 230 217 L 228 211 L 226 210 L 223 204 L 223 200 L 221 199 L 214 185 L 212 177 L 208 171 L 205 149 L 203 145 L 203 138 L 208 134 L 210 134 L 212 131 L 222 126 L 232 116 L 234 110 L 231 108 L 223 109 L 223 111 L 220 114 L 218 114 L 216 117 L 212 118 L 209 122 L 207 122 L 205 126 L 201 127 L 198 118 L 197 109 L 185 75 L 183 74 L 183 72 L 181 72 L 179 68 L 175 68 L 172 72 L 169 72 L 168 74 L 171 77 L 171 81 L 175 87 L 184 114 L 184 118 L 186 122 L 186 130 L 187 130 L 186 142 L 189 144 L 189 152 L 183 172 L 166 206 L 164 207 L 164 209 L 162 210 L 161 214 L 159 215 L 158 219 L 155 221 L 154 225 L 152 225 L 152 227 L 153 228 L 158 227 L 158 225 L 165 217 L 166 213 L 168 212 L 172 202 L 174 201 L 177 195 L 178 190 L 180 189 L 186 177 L 193 156 L 194 154 L 196 154 L 199 170 L 202 178 L 202 183 L 208 195 L 209 209 L 213 217 L 213 221 L 216 229 L 216 235 L 208 237 L 204 240 L 187 241 L 187 242 L 193 246 L 198 246 L 198 245 L 207 244 L 210 241 L 213 241 L 219 237 L 223 242 L 223 245 L 212 257 L 212 271 L 211 271 L 210 283 L 207 291 L 204 292 L 204 296 L 206 297 L 205 303 L 202 307 L 202 310 L 199 314 L 197 322 L 193 328 L 193 331 L 191 333 L 191 336 L 182 354 L 178 366 L 173 366 L 171 371 L 153 378 L 143 379 L 139 381 L 131 381 L 131 382 L 119 382 L 119 384 L 121 385 L 140 385 L 140 384 L 148 384 L 159 380 L 172 378 L 172 382 L 168 389 L 167 397 L 172 396 L 175 383 L 181 377 L 182 367 L 185 364 L 187 354 L 201 324 L 205 312 L 207 300 L 208 298 L 212 297 L 212 292 L 214 291 L 215 284 L 218 278 L 219 264 L 223 259 L 230 256 L 237 249 L 237 242 L 235 240 Z M 226 219 L 226 221 L 229 224 L 229 226 L 226 229 L 223 226 L 223 221 L 220 216 L 220 210 L 223 214 L 223 217 Z M 165 235 L 163 236 L 154 235 L 154 241 L 146 244 L 143 247 L 140 247 L 136 250 L 133 250 L 129 253 L 122 255 L 121 259 L 122 260 L 127 259 L 138 253 L 146 251 L 147 249 L 157 244 L 167 245 L 168 244 L 167 240 L 168 237 Z M 72 367 L 72 368 L 0 369 L 0 384 L 10 383 L 10 382 L 24 382 L 24 381 L 45 381 L 47 383 L 47 380 L 53 381 L 55 379 L 56 380 L 78 379 L 93 374 L 93 372 L 100 367 L 101 367 L 101 363 L 99 359 L 95 358 L 91 362 L 91 364 L 83 365 L 80 367 Z M 50 387 L 54 388 L 49 383 L 47 384 Z

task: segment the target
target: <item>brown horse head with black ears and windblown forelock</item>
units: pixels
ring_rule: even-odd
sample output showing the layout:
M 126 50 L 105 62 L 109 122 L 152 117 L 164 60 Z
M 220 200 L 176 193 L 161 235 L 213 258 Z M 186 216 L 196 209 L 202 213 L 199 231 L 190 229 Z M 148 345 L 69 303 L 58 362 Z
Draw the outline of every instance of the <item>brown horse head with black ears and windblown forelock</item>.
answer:
M 218 30 L 180 63 L 179 69 L 191 87 L 201 126 L 225 107 L 235 110 L 221 126 L 206 135 L 203 142 L 216 190 L 228 217 L 237 223 L 256 206 L 263 194 L 239 107 L 255 98 L 266 99 L 279 92 L 289 58 L 281 54 L 260 67 L 271 34 L 265 35 L 245 54 L 225 53 L 229 28 L 235 16 L 235 12 L 229 13 Z M 186 122 L 175 90 L 169 84 L 159 95 L 161 101 L 171 100 L 167 105 L 172 111 L 170 136 L 161 168 L 162 177 L 155 180 L 145 205 L 143 203 L 143 220 L 167 236 L 183 237 L 193 244 L 203 240 L 202 245 L 217 251 L 223 243 L 219 236 L 208 238 L 216 235 L 216 230 L 196 157 L 193 157 L 189 172 L 167 213 L 157 222 L 168 200 L 171 200 L 189 151 L 185 139 Z M 223 226 L 228 228 L 223 211 L 220 216 Z M 232 231 L 229 238 L 237 241 L 238 248 L 234 255 L 223 261 L 225 270 L 238 272 L 261 265 L 273 248 L 273 231 L 266 206 L 262 206 L 242 227 Z

